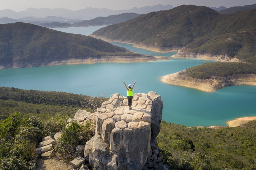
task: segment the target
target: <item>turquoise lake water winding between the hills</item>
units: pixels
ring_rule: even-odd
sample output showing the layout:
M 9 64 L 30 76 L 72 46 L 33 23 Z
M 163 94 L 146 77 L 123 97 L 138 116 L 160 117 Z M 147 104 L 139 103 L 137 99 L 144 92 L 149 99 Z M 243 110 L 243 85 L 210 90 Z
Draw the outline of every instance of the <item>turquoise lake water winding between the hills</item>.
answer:
M 68 33 L 89 35 L 102 26 L 55 29 Z M 147 54 L 169 56 L 130 44 L 113 43 L 129 50 Z M 256 86 L 229 86 L 215 92 L 204 92 L 162 83 L 161 76 L 212 61 L 201 59 L 175 59 L 156 62 L 98 63 L 59 65 L 32 68 L 0 69 L 0 86 L 43 91 L 110 96 L 126 96 L 126 84 L 137 83 L 134 93 L 155 91 L 163 101 L 166 122 L 192 126 L 227 126 L 227 121 L 245 116 L 256 116 Z

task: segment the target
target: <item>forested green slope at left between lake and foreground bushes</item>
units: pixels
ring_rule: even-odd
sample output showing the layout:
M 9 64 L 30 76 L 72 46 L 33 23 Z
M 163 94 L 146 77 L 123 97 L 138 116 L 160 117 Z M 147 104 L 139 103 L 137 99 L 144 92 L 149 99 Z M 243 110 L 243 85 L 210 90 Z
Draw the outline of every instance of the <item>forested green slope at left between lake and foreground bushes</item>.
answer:
M 79 109 L 94 113 L 107 99 L 103 95 L 93 97 L 0 87 L 0 122 L 14 112 L 19 112 L 22 116 L 35 115 L 44 121 L 57 114 L 73 117 Z

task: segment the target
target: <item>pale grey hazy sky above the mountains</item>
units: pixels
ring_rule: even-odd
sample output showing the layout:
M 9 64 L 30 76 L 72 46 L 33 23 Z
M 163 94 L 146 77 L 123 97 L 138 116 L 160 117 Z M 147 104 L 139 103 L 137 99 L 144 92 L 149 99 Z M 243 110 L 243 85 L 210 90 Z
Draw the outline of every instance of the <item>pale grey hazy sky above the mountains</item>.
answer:
M 16 12 L 24 11 L 27 8 L 66 8 L 71 10 L 93 8 L 131 9 L 133 7 L 144 7 L 153 5 L 167 5 L 174 7 L 183 4 L 197 6 L 226 8 L 233 6 L 244 6 L 255 4 L 256 0 L 1 0 L 0 10 L 11 9 Z

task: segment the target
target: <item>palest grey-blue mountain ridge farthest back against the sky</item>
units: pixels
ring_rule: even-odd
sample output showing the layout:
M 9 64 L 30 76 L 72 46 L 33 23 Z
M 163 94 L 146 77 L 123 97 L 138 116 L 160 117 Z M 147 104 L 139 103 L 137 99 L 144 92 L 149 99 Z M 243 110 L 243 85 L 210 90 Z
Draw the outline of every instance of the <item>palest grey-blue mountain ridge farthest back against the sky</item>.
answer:
M 64 17 L 67 19 L 93 19 L 96 17 L 107 17 L 109 15 L 116 15 L 122 13 L 138 13 L 138 14 L 146 14 L 152 11 L 159 10 L 168 10 L 172 9 L 172 5 L 154 5 L 154 6 L 145 6 L 141 8 L 132 8 L 128 10 L 110 10 L 106 8 L 91 8 L 88 7 L 86 9 L 81 9 L 77 11 L 69 10 L 69 9 L 49 9 L 49 8 L 28 8 L 25 11 L 15 12 L 10 9 L 0 10 L 0 18 L 8 17 L 13 19 L 24 18 L 24 17 L 36 17 L 36 18 L 44 18 L 47 16 L 56 16 L 56 17 Z

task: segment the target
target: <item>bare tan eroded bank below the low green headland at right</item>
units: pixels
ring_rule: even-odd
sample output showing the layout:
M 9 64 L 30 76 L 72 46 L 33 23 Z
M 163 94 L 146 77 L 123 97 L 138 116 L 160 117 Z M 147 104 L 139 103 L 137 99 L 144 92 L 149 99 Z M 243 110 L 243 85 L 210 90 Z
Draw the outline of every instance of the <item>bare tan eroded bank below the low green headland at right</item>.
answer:
M 171 85 L 195 88 L 207 92 L 213 92 L 222 87 L 232 85 L 256 86 L 256 74 L 231 75 L 228 77 L 212 76 L 210 79 L 196 79 L 182 75 L 181 73 L 182 72 L 177 72 L 163 76 L 161 81 Z

